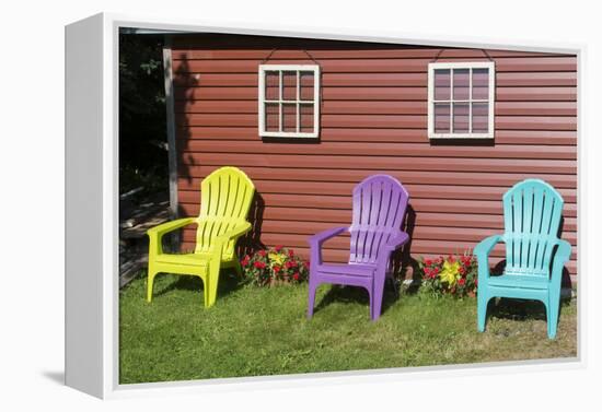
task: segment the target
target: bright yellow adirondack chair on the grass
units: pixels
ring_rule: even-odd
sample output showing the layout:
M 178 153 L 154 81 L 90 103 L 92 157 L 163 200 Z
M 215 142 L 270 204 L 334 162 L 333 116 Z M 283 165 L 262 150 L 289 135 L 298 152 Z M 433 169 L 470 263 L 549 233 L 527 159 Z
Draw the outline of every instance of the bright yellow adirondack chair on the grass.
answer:
M 149 272 L 147 301 L 152 299 L 152 285 L 158 273 L 190 274 L 204 283 L 205 307 L 216 303 L 220 269 L 234 268 L 242 274 L 234 247 L 236 240 L 251 229 L 246 221 L 255 193 L 253 181 L 236 167 L 221 167 L 207 176 L 200 185 L 200 214 L 198 217 L 178 219 L 147 232 L 149 244 Z M 197 224 L 195 251 L 164 254 L 163 235 Z

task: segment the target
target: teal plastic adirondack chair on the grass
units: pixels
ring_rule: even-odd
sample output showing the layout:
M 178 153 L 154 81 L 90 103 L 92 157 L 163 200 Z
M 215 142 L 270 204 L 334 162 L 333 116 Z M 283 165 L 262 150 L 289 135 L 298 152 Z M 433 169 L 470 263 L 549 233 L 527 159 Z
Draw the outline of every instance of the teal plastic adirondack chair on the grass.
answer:
M 477 323 L 485 330 L 491 297 L 536 299 L 546 308 L 547 337 L 556 337 L 563 268 L 570 244 L 558 238 L 564 200 L 551 185 L 526 179 L 503 195 L 503 235 L 487 237 L 474 249 L 478 260 Z M 506 243 L 506 269 L 490 276 L 488 257 Z

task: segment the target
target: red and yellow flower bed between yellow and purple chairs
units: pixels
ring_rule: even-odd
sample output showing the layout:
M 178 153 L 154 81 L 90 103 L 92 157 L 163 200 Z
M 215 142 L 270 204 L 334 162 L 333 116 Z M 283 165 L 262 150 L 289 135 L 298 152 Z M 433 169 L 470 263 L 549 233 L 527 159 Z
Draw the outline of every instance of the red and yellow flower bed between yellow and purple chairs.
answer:
M 293 249 L 282 246 L 246 255 L 241 266 L 245 279 L 259 286 L 301 283 L 310 273 L 310 263 L 294 255 Z

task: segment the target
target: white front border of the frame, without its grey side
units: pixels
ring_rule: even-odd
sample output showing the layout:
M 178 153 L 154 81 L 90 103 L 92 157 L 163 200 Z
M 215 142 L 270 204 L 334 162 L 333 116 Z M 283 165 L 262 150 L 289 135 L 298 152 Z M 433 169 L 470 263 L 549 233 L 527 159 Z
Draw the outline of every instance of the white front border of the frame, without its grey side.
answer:
M 363 35 L 357 30 L 344 28 L 315 28 L 297 26 L 278 26 L 276 24 L 266 27 L 265 25 L 235 24 L 224 26 L 220 22 L 201 22 L 173 19 L 153 19 L 123 14 L 102 13 L 96 17 L 103 20 L 103 282 L 102 294 L 102 333 L 103 333 L 103 360 L 102 370 L 90 370 L 91 374 L 101 374 L 103 387 L 101 393 L 92 393 L 102 398 L 129 398 L 139 396 L 163 396 L 169 393 L 200 393 L 222 392 L 230 390 L 254 390 L 268 388 L 288 388 L 299 386 L 319 386 L 333 384 L 368 384 L 391 380 L 442 378 L 449 376 L 453 370 L 454 376 L 475 376 L 491 374 L 514 374 L 514 373 L 537 373 L 548 370 L 583 368 L 587 364 L 587 352 L 584 348 L 586 331 L 583 330 L 584 314 L 582 311 L 583 293 L 578 294 L 578 356 L 569 360 L 526 361 L 526 362 L 503 362 L 491 364 L 472 364 L 436 366 L 419 368 L 390 368 L 356 372 L 334 372 L 306 375 L 288 376 L 263 376 L 229 379 L 190 380 L 160 384 L 118 384 L 118 31 L 119 27 L 140 27 L 149 30 L 182 31 L 182 32 L 211 32 L 232 33 L 250 35 L 270 35 L 288 37 L 311 37 L 324 39 L 341 39 L 356 42 L 379 42 L 394 44 L 437 45 L 449 47 L 477 47 L 477 48 L 503 48 L 523 51 L 543 52 L 567 52 L 578 56 L 578 284 L 580 291 L 587 291 L 587 278 L 581 275 L 582 269 L 582 242 L 584 239 L 584 227 L 581 224 L 586 215 L 583 203 L 583 181 L 580 173 L 583 169 L 584 144 L 583 133 L 583 85 L 584 79 L 584 45 L 548 43 L 536 44 L 529 42 L 512 40 L 512 45 L 503 40 L 484 39 L 476 37 L 412 35 L 408 33 L 377 32 Z M 66 162 L 69 162 L 66 158 Z M 68 216 L 67 216 L 68 217 Z M 67 250 L 68 254 L 76 252 Z M 68 291 L 66 291 L 67 293 Z M 67 326 L 68 328 L 69 326 Z M 66 357 L 70 354 L 66 354 Z M 69 372 L 67 370 L 67 374 Z

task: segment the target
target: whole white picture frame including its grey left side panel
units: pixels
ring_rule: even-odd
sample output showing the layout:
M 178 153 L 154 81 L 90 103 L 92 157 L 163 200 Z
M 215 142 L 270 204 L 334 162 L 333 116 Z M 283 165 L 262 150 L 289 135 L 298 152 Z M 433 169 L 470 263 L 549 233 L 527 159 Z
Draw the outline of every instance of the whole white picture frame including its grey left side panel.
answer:
M 408 36 L 400 33 L 368 34 L 345 30 L 259 25 L 222 26 L 174 19 L 150 19 L 101 13 L 66 27 L 66 385 L 99 398 L 124 398 L 158 393 L 199 393 L 215 390 L 290 388 L 328 384 L 367 384 L 499 372 L 498 365 L 454 365 L 391 368 L 346 373 L 306 374 L 287 377 L 251 377 L 160 384 L 118 382 L 118 33 L 120 27 L 230 33 L 248 35 L 380 42 L 447 47 L 488 47 L 525 51 L 576 54 L 582 47 L 503 43 L 476 44 L 461 36 Z M 579 75 L 581 73 L 579 72 Z M 580 84 L 580 82 L 579 82 Z M 581 121 L 581 120 L 580 120 Z M 578 129 L 580 130 L 580 128 Z M 581 142 L 580 131 L 578 141 Z M 581 148 L 582 149 L 582 148 Z M 581 187 L 581 186 L 580 186 Z M 580 201 L 579 207 L 582 204 Z M 581 208 L 581 207 L 580 207 Z M 581 220 L 581 212 L 578 212 Z M 582 249 L 581 235 L 578 248 Z M 580 251 L 579 251 L 580 254 Z M 581 255 L 580 255 L 581 256 Z M 579 263 L 580 266 L 580 263 Z M 80 269 L 85 267 L 85 271 Z M 578 270 L 579 284 L 583 281 Z M 582 299 L 579 301 L 579 310 Z M 506 373 L 546 372 L 582 367 L 579 328 L 576 358 L 547 362 L 503 363 Z

